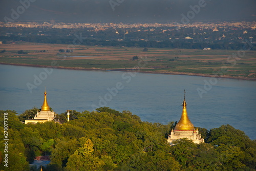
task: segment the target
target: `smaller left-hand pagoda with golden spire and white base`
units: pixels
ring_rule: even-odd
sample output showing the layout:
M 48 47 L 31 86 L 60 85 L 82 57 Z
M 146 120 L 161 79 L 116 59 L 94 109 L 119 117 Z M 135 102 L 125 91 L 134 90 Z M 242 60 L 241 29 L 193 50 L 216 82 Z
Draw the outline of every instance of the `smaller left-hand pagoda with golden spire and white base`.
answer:
M 37 111 L 35 117 L 33 119 L 28 119 L 28 120 L 25 120 L 25 124 L 27 123 L 38 123 L 38 122 L 46 122 L 46 121 L 52 121 L 54 120 L 54 112 L 50 110 L 50 107 L 48 105 L 48 102 L 47 102 L 47 98 L 46 98 L 46 90 L 45 90 L 45 99 L 44 99 L 44 103 L 42 103 L 42 106 L 41 106 L 41 110 L 40 112 Z

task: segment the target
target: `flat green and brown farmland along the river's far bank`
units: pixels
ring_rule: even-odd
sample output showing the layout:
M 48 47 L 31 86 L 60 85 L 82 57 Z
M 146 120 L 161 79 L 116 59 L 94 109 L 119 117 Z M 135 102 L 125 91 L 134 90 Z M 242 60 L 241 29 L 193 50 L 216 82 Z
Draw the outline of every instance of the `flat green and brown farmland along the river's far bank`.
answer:
M 18 54 L 21 50 L 25 53 Z M 133 60 L 134 56 L 138 59 Z M 256 51 L 148 48 L 143 52 L 143 48 L 136 47 L 19 42 L 0 45 L 0 63 L 256 79 Z

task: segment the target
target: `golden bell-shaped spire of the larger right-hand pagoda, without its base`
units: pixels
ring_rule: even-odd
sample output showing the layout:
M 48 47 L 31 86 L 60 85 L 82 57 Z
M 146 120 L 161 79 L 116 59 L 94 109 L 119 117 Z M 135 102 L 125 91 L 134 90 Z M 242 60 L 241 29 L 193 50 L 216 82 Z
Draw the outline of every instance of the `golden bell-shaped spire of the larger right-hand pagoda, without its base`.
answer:
M 191 123 L 191 121 L 189 120 L 188 116 L 187 116 L 187 109 L 186 109 L 186 100 L 185 100 L 185 90 L 184 90 L 184 101 L 183 101 L 183 111 L 181 114 L 181 118 L 180 121 L 177 123 L 177 125 L 175 126 L 175 130 L 179 130 L 179 131 L 194 131 L 195 127 L 194 125 Z

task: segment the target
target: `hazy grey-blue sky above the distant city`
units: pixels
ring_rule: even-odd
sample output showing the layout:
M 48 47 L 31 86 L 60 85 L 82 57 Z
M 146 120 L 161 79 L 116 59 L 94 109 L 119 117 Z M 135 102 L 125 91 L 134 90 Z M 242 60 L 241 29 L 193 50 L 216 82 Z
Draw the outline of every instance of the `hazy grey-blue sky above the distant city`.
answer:
M 26 2 L 26 8 L 20 2 Z M 191 22 L 256 20 L 256 0 L 0 0 L 0 3 L 1 21 L 9 17 L 15 21 L 182 23 L 181 14 L 187 16 L 189 11 Z M 202 7 L 192 12 L 189 6 L 198 7 L 200 3 Z M 12 14 L 15 12 L 19 16 Z

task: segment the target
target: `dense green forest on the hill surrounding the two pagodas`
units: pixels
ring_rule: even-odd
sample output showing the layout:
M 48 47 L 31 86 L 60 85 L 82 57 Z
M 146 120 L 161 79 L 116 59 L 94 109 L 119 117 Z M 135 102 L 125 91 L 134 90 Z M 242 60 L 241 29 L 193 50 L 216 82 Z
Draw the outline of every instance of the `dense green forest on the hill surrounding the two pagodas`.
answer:
M 94 112 L 70 111 L 56 114 L 61 122 L 24 124 L 37 108 L 17 115 L 0 111 L 0 133 L 8 113 L 8 167 L 1 142 L 0 170 L 40 170 L 30 166 L 35 156 L 50 155 L 42 170 L 256 170 L 256 141 L 231 125 L 199 128 L 205 143 L 180 139 L 167 143 L 167 125 L 141 121 L 129 111 L 98 108 Z

